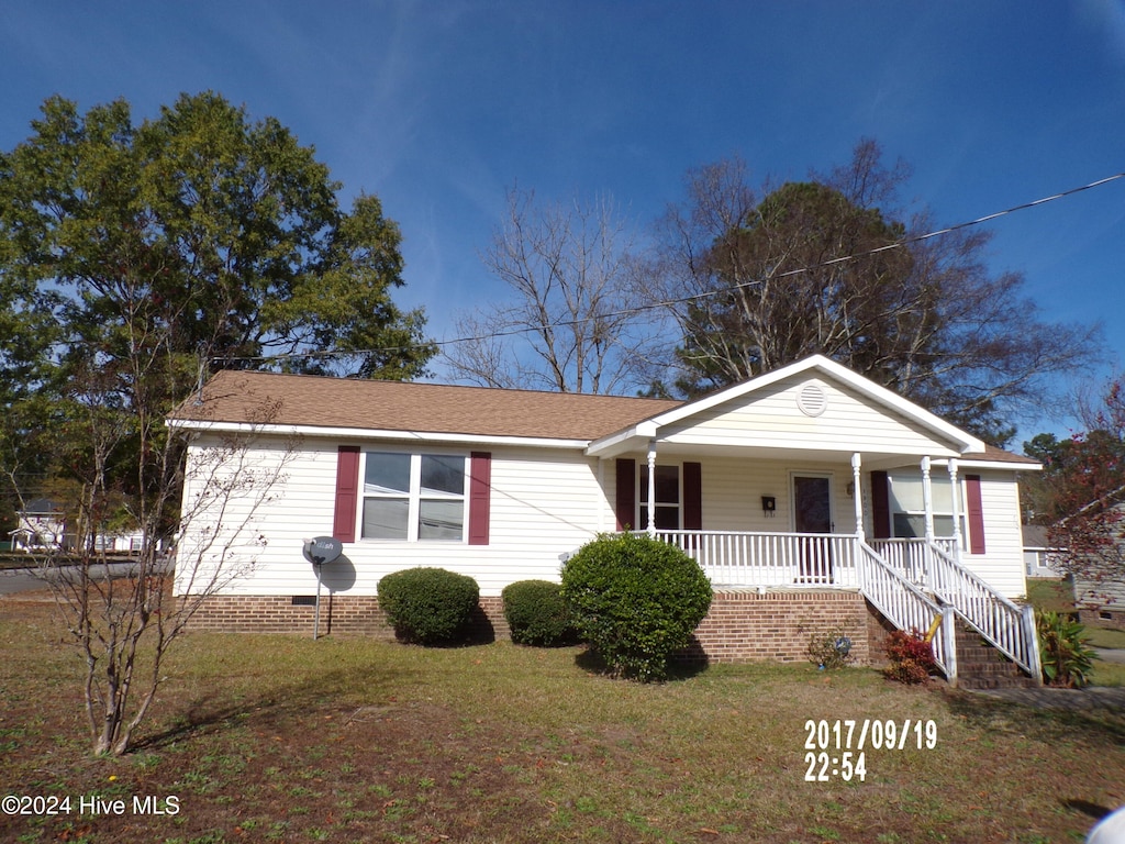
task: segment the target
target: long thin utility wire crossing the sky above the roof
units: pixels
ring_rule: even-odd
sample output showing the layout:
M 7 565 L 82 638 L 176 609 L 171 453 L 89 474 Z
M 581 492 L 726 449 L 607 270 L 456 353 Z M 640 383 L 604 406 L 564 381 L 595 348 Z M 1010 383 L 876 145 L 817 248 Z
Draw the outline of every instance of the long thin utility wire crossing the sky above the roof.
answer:
M 933 232 L 926 232 L 925 234 L 916 234 L 910 237 L 903 237 L 893 243 L 886 243 L 882 246 L 875 246 L 874 249 L 866 250 L 864 252 L 855 252 L 847 255 L 842 255 L 839 258 L 830 258 L 820 263 L 809 264 L 806 267 L 799 267 L 792 270 L 785 270 L 784 272 L 778 272 L 773 276 L 773 278 L 788 278 L 790 276 L 799 276 L 803 272 L 810 272 L 812 270 L 821 269 L 824 267 L 831 267 L 838 263 L 846 263 L 848 261 L 856 261 L 861 258 L 867 258 L 868 255 L 879 254 L 880 252 L 888 252 L 894 249 L 904 249 L 914 243 L 921 243 L 922 241 L 928 241 L 934 237 L 939 237 L 944 234 L 951 234 L 952 232 L 961 231 L 962 228 L 970 228 L 972 226 L 982 225 L 984 223 L 998 219 L 1000 217 L 1006 217 L 1009 214 L 1015 214 L 1017 212 L 1027 210 L 1028 208 L 1035 208 L 1040 205 L 1045 205 L 1047 203 L 1053 203 L 1056 199 L 1063 199 L 1074 194 L 1081 194 L 1084 190 L 1091 190 L 1094 188 L 1099 188 L 1102 185 L 1108 185 L 1109 182 L 1117 181 L 1118 179 L 1125 179 L 1125 172 L 1114 173 L 1113 176 L 1107 176 L 1105 179 L 1098 179 L 1097 181 L 1091 181 L 1088 185 L 1082 185 L 1077 188 L 1071 188 L 1069 190 L 1063 190 L 1059 194 L 1052 194 L 1051 196 L 1045 196 L 1042 199 L 1035 199 L 1029 203 L 1023 203 L 1020 205 L 1014 205 L 1010 208 L 1005 208 L 1004 210 L 993 212 L 992 214 L 986 214 L 983 217 L 976 217 L 975 219 L 965 221 L 964 223 L 956 223 L 955 225 L 946 226 L 944 228 L 937 228 Z M 358 354 L 375 354 L 379 352 L 402 352 L 410 351 L 411 349 L 420 349 L 428 345 L 456 345 L 458 343 L 474 343 L 482 342 L 485 340 L 494 340 L 497 338 L 514 336 L 516 334 L 526 334 L 532 331 L 543 331 L 548 329 L 564 329 L 574 325 L 580 325 L 583 323 L 590 322 L 591 320 L 604 320 L 618 316 L 631 316 L 634 314 L 640 314 L 646 311 L 655 311 L 657 308 L 669 308 L 675 305 L 686 305 L 692 302 L 699 302 L 701 299 L 711 298 L 713 296 L 722 296 L 724 294 L 736 293 L 738 290 L 753 287 L 760 281 L 742 281 L 737 285 L 730 285 L 729 287 L 720 287 L 714 290 L 705 290 L 703 293 L 692 294 L 690 296 L 683 296 L 680 298 L 665 299 L 663 302 L 652 302 L 647 305 L 634 305 L 632 307 L 621 308 L 618 311 L 610 311 L 606 313 L 601 313 L 595 316 L 582 317 L 578 320 L 562 320 L 555 323 L 548 323 L 544 325 L 529 325 L 522 327 L 512 327 L 503 331 L 493 331 L 487 334 L 470 335 L 454 338 L 452 340 L 433 340 L 424 343 L 411 343 L 407 345 L 398 347 L 387 347 L 382 349 L 358 349 L 354 351 L 308 351 L 308 352 L 285 352 L 281 354 L 261 354 L 261 356 L 236 356 L 236 357 L 222 357 L 215 358 L 215 361 L 284 361 L 284 360 L 299 360 L 308 358 L 332 358 L 332 357 L 348 357 Z

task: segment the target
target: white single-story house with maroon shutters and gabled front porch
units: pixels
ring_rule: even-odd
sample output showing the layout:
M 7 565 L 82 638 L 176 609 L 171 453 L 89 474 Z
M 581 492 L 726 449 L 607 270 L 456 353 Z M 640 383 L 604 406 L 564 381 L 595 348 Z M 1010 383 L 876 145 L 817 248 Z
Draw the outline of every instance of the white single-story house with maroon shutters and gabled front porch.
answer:
M 379 578 L 412 566 L 475 577 L 500 627 L 504 586 L 557 581 L 565 555 L 634 529 L 710 576 L 698 636 L 712 659 L 803 658 L 829 627 L 870 656 L 872 614 L 921 630 L 940 614 L 955 677 L 957 614 L 1037 675 L 1010 599 L 1026 593 L 1016 475 L 1038 464 L 820 356 L 687 403 L 225 371 L 169 423 L 192 433 L 186 508 L 224 438 L 252 434 L 259 469 L 289 459 L 249 519 L 264 544 L 244 544 L 253 569 L 205 602 L 200 626 L 304 629 L 317 586 L 303 541 L 331 535 L 336 629 L 372 629 Z M 213 528 L 242 524 L 249 500 L 192 521 L 181 560 L 228 545 Z

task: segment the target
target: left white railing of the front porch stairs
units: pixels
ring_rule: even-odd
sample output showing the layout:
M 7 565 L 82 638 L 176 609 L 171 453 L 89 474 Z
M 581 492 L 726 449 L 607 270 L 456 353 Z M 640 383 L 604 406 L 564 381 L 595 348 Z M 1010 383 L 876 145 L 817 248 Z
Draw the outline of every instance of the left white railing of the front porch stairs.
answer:
M 950 685 L 957 684 L 957 648 L 951 608 L 938 603 L 903 577 L 875 549 L 855 540 L 856 572 L 864 596 L 900 630 L 926 632 L 937 617 L 942 618 L 938 634 L 930 643 L 934 662 Z

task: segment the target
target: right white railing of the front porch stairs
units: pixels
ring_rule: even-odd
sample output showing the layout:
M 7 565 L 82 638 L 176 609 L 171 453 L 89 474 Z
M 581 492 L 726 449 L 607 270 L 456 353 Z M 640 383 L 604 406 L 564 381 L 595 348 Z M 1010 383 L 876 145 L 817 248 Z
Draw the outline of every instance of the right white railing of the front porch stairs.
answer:
M 1035 611 L 1018 607 L 937 545 L 927 547 L 927 585 L 973 629 L 1043 683 Z

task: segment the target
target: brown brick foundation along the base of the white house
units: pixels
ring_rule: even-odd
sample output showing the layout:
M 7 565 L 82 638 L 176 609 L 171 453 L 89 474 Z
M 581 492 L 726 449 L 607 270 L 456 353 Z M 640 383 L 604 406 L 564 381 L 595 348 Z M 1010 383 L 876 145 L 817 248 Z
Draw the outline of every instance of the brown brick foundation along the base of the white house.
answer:
M 191 620 L 194 630 L 313 632 L 315 608 L 289 595 L 214 595 Z M 482 598 L 475 632 L 485 641 L 507 638 L 500 598 Z M 813 638 L 844 634 L 854 663 L 880 653 L 885 625 L 863 595 L 847 590 L 729 590 L 714 593 L 711 610 L 678 659 L 710 663 L 806 662 Z M 374 595 L 322 595 L 322 636 L 394 639 Z M 876 658 L 878 661 L 878 658 Z

